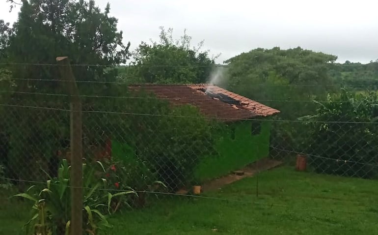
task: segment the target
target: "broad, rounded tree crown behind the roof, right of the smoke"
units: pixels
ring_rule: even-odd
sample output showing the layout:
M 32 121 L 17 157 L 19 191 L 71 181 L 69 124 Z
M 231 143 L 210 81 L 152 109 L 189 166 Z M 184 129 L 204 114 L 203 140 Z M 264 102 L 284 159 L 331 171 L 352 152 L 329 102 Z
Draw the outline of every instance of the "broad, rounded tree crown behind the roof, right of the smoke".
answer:
M 292 104 L 282 101 L 312 100 L 314 96 L 326 94 L 325 89 L 332 82 L 327 71 L 336 59 L 336 56 L 300 47 L 257 48 L 225 61 L 228 81 L 223 86 L 252 99 L 279 100 L 267 103 L 280 109 L 281 116 L 296 118 L 304 107 L 292 112 Z

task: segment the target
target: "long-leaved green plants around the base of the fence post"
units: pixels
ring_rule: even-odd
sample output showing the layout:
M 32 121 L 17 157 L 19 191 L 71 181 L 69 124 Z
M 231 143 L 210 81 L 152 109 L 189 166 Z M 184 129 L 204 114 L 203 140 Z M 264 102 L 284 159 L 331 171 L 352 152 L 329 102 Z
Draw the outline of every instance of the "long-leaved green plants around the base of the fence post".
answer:
M 26 224 L 27 234 L 70 234 L 70 169 L 63 159 L 58 176 L 47 180 L 44 188 L 32 185 L 25 193 L 14 196 L 33 202 L 34 213 Z M 130 188 L 110 193 L 107 180 L 96 175 L 101 172 L 105 172 L 105 168 L 100 162 L 83 164 L 83 229 L 88 235 L 98 234 L 110 227 L 105 215 L 112 213 L 111 205 L 115 198 L 120 200 L 119 198 L 135 194 Z

